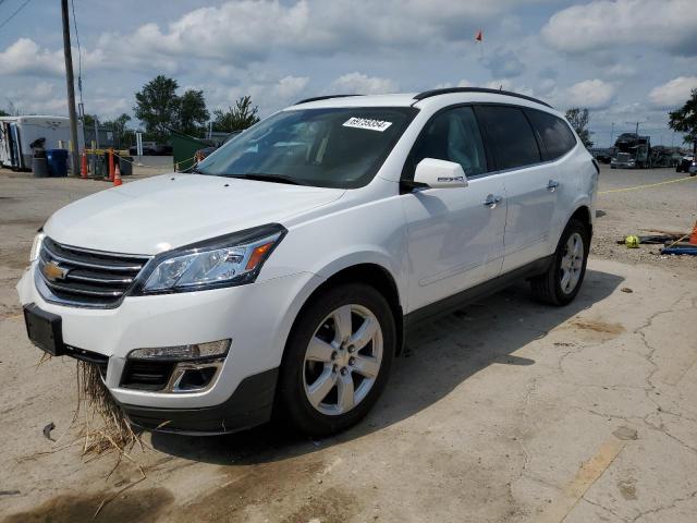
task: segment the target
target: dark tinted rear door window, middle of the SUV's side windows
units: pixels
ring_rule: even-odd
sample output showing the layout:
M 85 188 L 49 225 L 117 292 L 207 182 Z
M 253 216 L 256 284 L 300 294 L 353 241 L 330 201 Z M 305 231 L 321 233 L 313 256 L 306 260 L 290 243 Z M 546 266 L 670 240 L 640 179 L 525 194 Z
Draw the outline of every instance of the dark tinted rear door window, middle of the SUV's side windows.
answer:
M 477 115 L 491 142 L 499 170 L 538 163 L 540 150 L 533 127 L 521 109 L 481 106 Z

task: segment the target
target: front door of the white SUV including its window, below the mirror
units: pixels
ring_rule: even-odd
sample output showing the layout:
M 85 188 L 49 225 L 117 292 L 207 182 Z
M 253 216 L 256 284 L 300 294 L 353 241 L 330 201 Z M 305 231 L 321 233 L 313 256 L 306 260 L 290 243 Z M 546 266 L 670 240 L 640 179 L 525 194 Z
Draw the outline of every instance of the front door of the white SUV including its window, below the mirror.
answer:
M 460 163 L 469 184 L 402 196 L 408 231 L 407 312 L 497 277 L 503 263 L 504 186 L 501 177 L 489 174 L 470 107 L 433 117 L 409 156 L 407 178 L 424 158 Z

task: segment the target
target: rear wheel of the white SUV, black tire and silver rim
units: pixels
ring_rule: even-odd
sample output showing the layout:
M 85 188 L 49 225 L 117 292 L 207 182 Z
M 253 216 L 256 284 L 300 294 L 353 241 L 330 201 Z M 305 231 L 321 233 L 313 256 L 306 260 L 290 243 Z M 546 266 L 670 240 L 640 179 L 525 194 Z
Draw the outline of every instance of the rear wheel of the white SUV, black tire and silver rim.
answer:
M 580 245 L 583 254 L 580 257 L 575 258 L 572 253 L 571 256 L 573 258 L 573 265 L 570 267 L 570 258 L 566 256 L 568 254 L 570 241 L 572 238 L 574 241 L 582 242 Z M 570 220 L 561 239 L 559 240 L 559 244 L 557 245 L 557 251 L 554 252 L 554 257 L 549 269 L 543 275 L 530 280 L 530 287 L 535 299 L 557 306 L 563 306 L 571 303 L 574 297 L 576 297 L 576 294 L 578 294 L 580 285 L 584 282 L 589 247 L 590 241 L 588 238 L 588 231 L 584 223 L 576 219 Z M 577 271 L 574 269 L 577 269 Z M 564 284 L 563 280 L 565 273 L 570 275 L 570 280 L 567 280 L 566 284 Z M 570 288 L 570 283 L 572 282 L 574 282 L 573 287 Z

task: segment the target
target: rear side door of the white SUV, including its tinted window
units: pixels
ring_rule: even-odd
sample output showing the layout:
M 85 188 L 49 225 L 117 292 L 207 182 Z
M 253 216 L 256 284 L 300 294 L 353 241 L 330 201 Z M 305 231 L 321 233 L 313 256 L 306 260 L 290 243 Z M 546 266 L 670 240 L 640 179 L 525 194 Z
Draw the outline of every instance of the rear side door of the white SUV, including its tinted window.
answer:
M 543 163 L 543 151 L 523 108 L 480 105 L 476 111 L 505 186 L 502 271 L 508 272 L 549 254 L 559 177 Z

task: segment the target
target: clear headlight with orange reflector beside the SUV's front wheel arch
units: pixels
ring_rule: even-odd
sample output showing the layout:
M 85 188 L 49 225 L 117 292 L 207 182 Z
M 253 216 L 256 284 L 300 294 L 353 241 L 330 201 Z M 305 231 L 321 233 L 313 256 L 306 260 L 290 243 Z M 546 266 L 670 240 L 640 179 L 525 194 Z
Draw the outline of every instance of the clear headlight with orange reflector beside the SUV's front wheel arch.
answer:
M 152 269 L 139 292 L 198 291 L 249 283 L 285 232 L 273 223 L 163 253 L 152 259 Z

